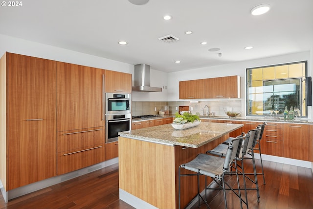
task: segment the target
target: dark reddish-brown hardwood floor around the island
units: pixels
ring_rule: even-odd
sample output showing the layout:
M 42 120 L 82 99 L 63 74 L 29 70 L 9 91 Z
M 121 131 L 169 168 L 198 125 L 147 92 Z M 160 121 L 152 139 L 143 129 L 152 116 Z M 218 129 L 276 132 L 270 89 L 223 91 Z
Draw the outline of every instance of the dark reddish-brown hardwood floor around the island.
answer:
M 309 168 L 263 161 L 266 185 L 258 176 L 260 202 L 256 191 L 248 191 L 249 209 L 313 209 L 313 173 Z M 251 163 L 245 164 L 247 172 L 252 171 Z M 260 168 L 260 161 L 257 160 Z M 242 179 L 241 179 L 242 180 Z M 235 177 L 227 177 L 235 184 Z M 251 184 L 248 184 L 251 186 Z M 243 193 L 243 192 L 242 192 Z M 227 191 L 227 206 L 238 209 L 239 199 Z M 208 202 L 211 209 L 224 208 L 221 191 L 209 191 Z M 198 208 L 197 206 L 193 209 Z M 201 209 L 205 209 L 201 204 Z M 246 206 L 244 205 L 244 209 Z M 134 209 L 119 200 L 118 165 L 94 171 L 58 185 L 10 200 L 5 204 L 0 197 L 0 209 Z

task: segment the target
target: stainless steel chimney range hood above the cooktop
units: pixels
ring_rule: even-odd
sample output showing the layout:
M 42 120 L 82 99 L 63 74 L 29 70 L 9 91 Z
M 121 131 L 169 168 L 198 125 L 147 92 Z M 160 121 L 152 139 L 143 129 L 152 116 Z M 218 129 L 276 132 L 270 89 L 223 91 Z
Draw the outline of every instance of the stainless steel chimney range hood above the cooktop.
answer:
M 150 86 L 150 66 L 146 64 L 135 65 L 135 86 L 133 92 L 162 92 L 162 88 Z

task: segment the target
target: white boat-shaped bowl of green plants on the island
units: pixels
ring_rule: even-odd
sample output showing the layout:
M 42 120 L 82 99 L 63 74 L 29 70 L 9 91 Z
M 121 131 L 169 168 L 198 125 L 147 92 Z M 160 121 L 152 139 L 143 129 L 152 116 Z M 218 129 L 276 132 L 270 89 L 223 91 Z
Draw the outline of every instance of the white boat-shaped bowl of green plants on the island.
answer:
M 175 119 L 173 120 L 172 126 L 175 129 L 187 129 L 200 124 L 200 117 L 197 115 L 192 115 L 188 112 L 184 112 L 182 115 L 179 113 L 175 114 Z

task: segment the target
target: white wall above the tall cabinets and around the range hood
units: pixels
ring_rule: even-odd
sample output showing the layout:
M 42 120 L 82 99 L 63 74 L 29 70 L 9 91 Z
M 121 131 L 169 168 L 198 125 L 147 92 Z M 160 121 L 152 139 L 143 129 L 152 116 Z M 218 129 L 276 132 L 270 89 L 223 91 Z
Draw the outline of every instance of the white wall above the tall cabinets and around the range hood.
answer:
M 133 64 L 118 62 L 115 60 L 97 57 L 90 54 L 67 50 L 55 46 L 44 45 L 0 34 L 0 57 L 6 51 L 100 69 L 132 73 L 134 85 Z M 151 69 L 150 74 L 151 86 L 167 86 L 167 73 Z M 162 92 L 160 93 L 134 92 L 132 96 L 133 101 L 167 101 L 167 90 L 162 90 Z

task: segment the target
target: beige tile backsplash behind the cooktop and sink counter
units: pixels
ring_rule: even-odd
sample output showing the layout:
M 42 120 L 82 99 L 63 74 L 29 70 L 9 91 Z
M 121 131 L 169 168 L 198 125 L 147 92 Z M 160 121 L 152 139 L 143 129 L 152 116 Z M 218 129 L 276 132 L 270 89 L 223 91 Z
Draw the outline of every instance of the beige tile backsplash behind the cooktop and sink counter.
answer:
M 190 103 L 190 101 L 168 101 L 168 102 L 132 102 L 132 115 L 141 116 L 141 115 L 158 115 L 158 111 L 164 110 L 165 106 L 169 109 L 169 114 L 175 114 L 178 112 L 176 107 L 179 106 L 189 106 L 189 110 L 192 114 L 197 112 L 200 115 L 207 114 L 207 108 L 204 106 L 207 105 L 210 108 L 210 112 L 214 113 L 216 116 L 226 116 L 223 110 L 223 107 L 231 107 L 233 111 L 241 111 L 241 100 L 214 100 L 214 101 L 199 101 L 199 103 Z M 156 109 L 156 111 L 155 111 Z M 203 110 L 202 110 L 203 109 Z

